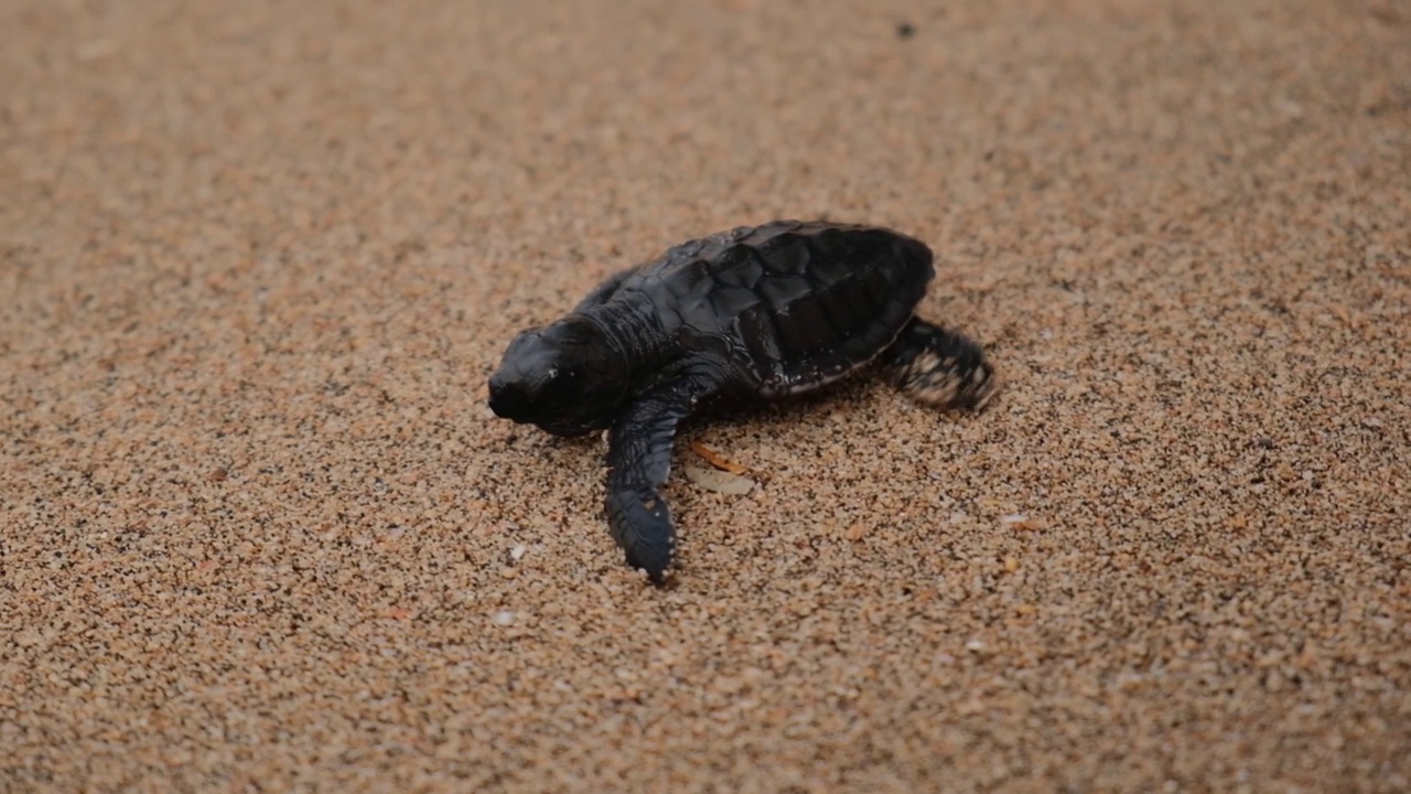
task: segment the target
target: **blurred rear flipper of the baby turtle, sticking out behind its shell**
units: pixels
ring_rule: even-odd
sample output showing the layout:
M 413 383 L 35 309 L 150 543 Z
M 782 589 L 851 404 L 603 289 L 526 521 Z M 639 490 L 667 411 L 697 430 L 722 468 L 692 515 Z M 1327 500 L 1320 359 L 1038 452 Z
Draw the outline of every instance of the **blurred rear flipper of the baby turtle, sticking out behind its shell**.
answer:
M 979 345 L 920 318 L 912 318 L 878 360 L 903 391 L 947 410 L 978 411 L 999 387 Z

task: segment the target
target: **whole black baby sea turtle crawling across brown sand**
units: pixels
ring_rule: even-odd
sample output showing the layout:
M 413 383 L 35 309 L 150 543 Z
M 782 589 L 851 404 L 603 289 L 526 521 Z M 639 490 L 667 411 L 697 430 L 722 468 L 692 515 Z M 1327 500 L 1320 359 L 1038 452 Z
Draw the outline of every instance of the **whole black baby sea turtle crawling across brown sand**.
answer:
M 608 431 L 608 527 L 628 565 L 662 583 L 676 527 L 658 489 L 686 417 L 811 391 L 872 362 L 923 403 L 991 398 L 979 346 L 913 314 L 931 260 L 890 229 L 825 222 L 691 240 L 515 336 L 490 407 L 555 435 Z

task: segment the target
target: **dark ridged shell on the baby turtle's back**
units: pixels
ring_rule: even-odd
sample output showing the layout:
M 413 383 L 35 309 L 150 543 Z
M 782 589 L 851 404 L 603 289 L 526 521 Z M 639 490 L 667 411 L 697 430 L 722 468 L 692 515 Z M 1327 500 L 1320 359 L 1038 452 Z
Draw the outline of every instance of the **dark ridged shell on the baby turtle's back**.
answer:
M 646 298 L 679 345 L 729 362 L 737 386 L 780 397 L 875 359 L 933 275 L 931 250 L 889 229 L 780 220 L 669 249 L 614 297 Z

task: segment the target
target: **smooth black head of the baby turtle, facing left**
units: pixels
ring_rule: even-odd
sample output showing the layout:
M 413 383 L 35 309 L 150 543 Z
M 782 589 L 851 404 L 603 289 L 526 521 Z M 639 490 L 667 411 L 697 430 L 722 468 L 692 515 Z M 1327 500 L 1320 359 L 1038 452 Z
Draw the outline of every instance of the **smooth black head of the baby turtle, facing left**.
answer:
M 626 397 L 626 376 L 625 357 L 602 329 L 570 315 L 509 342 L 490 379 L 490 408 L 555 435 L 583 435 L 612 422 Z

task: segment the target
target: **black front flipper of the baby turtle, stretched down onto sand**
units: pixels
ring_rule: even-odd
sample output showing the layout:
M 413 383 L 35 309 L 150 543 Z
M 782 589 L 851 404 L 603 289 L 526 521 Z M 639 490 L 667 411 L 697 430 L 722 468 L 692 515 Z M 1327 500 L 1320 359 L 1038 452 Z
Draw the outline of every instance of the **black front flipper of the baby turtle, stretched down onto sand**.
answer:
M 608 528 L 626 552 L 626 564 L 645 569 L 656 585 L 666 581 L 676 551 L 672 510 L 658 490 L 672 469 L 676 425 L 720 387 L 722 369 L 701 365 L 662 380 L 608 434 Z

